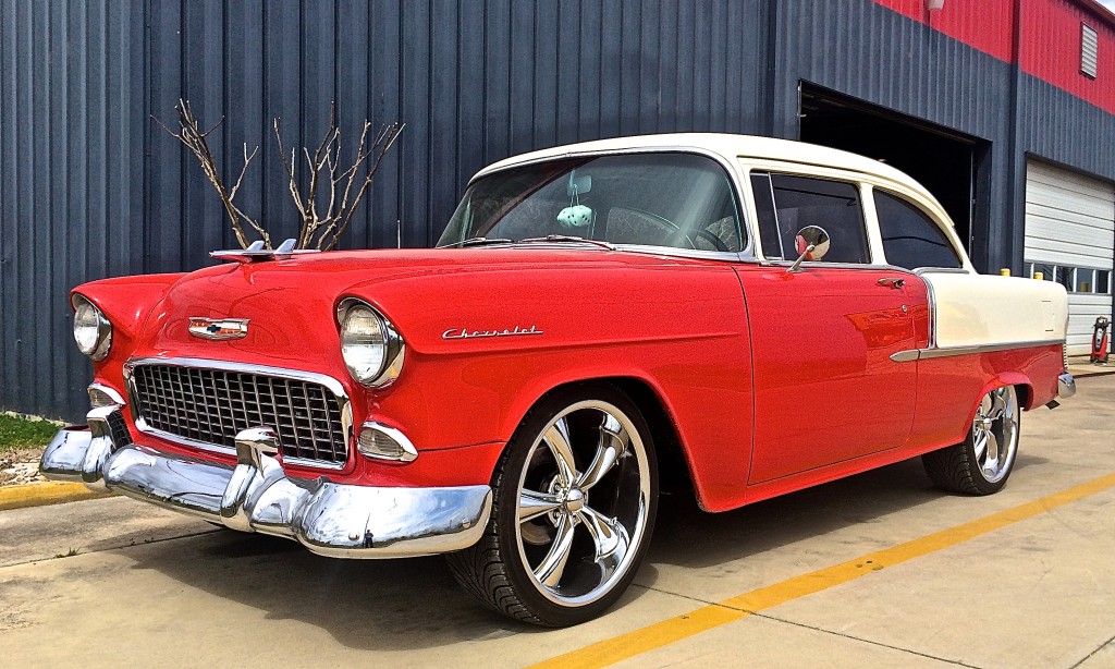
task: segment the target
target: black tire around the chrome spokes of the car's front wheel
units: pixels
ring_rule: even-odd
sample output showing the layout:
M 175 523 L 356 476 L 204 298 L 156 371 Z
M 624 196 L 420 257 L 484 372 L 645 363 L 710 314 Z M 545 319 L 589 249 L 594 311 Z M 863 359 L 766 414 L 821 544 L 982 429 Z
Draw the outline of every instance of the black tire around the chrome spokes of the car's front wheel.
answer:
M 578 409 L 563 416 L 563 411 L 569 411 L 584 403 L 593 403 L 599 406 Z M 565 433 L 562 434 L 570 437 L 568 443 L 573 446 L 572 452 L 576 462 L 575 472 L 580 477 L 585 478 L 589 476 L 589 469 L 592 469 L 590 464 L 593 464 L 595 458 L 605 450 L 602 447 L 597 448 L 593 454 L 588 454 L 590 457 L 586 457 L 583 442 L 588 442 L 588 439 L 576 438 L 590 435 L 586 426 L 591 424 L 593 417 L 591 411 L 599 411 L 603 424 L 598 428 L 600 445 L 605 444 L 607 435 L 615 434 L 604 429 L 604 426 L 610 425 L 607 415 L 611 413 L 611 409 L 602 409 L 601 407 L 611 407 L 621 414 L 622 419 L 634 433 L 630 435 L 631 438 L 628 440 L 627 447 L 622 449 L 623 455 L 614 458 L 614 465 L 604 469 L 608 473 L 595 478 L 594 483 L 588 484 L 583 488 L 584 492 L 576 488 L 581 495 L 576 498 L 583 504 L 582 507 L 578 507 L 578 511 L 570 511 L 573 502 L 566 501 L 544 515 L 520 521 L 520 488 L 522 486 L 523 489 L 533 492 L 535 488 L 543 487 L 542 485 L 532 485 L 527 488 L 526 482 L 529 477 L 535 479 L 540 472 L 544 476 L 545 472 L 550 471 L 550 465 L 546 463 L 546 458 L 550 456 L 553 456 L 552 467 L 555 472 L 555 475 L 550 479 L 550 496 L 561 498 L 562 495 L 568 495 L 572 498 L 576 495 L 576 493 L 571 494 L 562 488 L 562 475 L 556 452 L 543 435 L 547 429 L 558 429 L 555 421 L 559 419 L 565 421 Z M 628 428 L 624 427 L 623 432 L 627 433 Z M 634 457 L 631 457 L 632 455 Z M 638 476 L 638 481 L 636 481 L 636 476 Z M 643 485 L 644 476 L 648 479 L 646 485 Z M 597 483 L 601 484 L 600 487 L 592 487 Z M 554 492 L 554 486 L 558 486 L 556 492 Z M 489 609 L 515 620 L 556 628 L 579 624 L 597 618 L 623 594 L 646 556 L 658 507 L 658 464 L 650 430 L 642 414 L 627 395 L 609 384 L 583 384 L 555 392 L 541 400 L 523 418 L 515 435 L 508 442 L 496 465 L 492 487 L 494 491 L 492 517 L 484 535 L 473 546 L 447 555 L 454 576 L 477 600 Z M 576 486 L 570 486 L 571 489 L 573 487 Z M 589 507 L 588 493 L 590 488 L 599 492 L 600 497 L 604 501 L 603 505 L 594 505 L 598 508 Z M 604 494 L 609 489 L 613 494 Z M 631 494 L 642 500 L 642 503 L 630 498 Z M 637 504 L 642 513 L 633 511 L 632 503 Z M 579 515 L 589 512 L 593 515 Z M 589 520 L 573 520 L 575 517 Z M 601 527 L 599 522 L 592 520 L 597 517 L 605 517 L 607 527 Z M 630 526 L 628 520 L 630 520 Z M 571 529 L 566 530 L 569 534 L 563 534 L 563 522 L 570 524 Z M 545 563 L 555 551 L 561 553 L 560 536 L 572 537 L 561 542 L 562 545 L 570 547 L 564 552 L 566 558 L 561 561 L 559 582 L 553 588 L 545 585 L 540 576 L 535 575 L 535 570 L 542 569 L 543 565 L 539 564 L 532 569 L 532 558 L 527 555 L 529 552 L 545 550 L 545 535 L 539 533 L 547 532 L 551 525 L 554 536 L 550 540 L 550 547 L 549 551 L 545 551 L 542 563 Z M 615 530 L 612 537 L 622 535 L 629 543 L 622 543 L 622 547 L 613 549 L 613 552 L 603 559 L 598 558 L 601 552 L 598 533 L 601 533 L 601 530 Z M 526 539 L 527 531 L 530 531 L 531 541 Z M 602 534 L 607 539 L 607 532 Z M 580 555 L 575 561 L 573 559 L 574 549 Z M 588 550 L 588 555 L 582 554 L 585 550 Z M 619 561 L 614 565 L 615 569 L 610 572 L 610 576 L 604 576 L 603 574 L 609 573 L 609 566 L 614 560 Z M 593 570 L 601 574 L 600 583 L 595 585 L 599 592 L 588 590 L 580 593 L 579 589 L 586 588 L 586 584 L 591 585 Z M 568 592 L 564 590 L 566 579 L 570 582 Z

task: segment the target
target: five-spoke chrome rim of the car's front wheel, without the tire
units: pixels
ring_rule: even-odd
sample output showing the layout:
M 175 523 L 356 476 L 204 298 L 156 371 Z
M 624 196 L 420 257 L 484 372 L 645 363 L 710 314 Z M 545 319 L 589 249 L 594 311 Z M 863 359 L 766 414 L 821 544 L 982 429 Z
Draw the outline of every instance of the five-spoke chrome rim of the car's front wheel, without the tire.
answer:
M 631 568 L 647 530 L 650 472 L 631 419 L 615 406 L 576 403 L 534 439 L 518 477 L 520 559 L 550 601 L 582 605 Z

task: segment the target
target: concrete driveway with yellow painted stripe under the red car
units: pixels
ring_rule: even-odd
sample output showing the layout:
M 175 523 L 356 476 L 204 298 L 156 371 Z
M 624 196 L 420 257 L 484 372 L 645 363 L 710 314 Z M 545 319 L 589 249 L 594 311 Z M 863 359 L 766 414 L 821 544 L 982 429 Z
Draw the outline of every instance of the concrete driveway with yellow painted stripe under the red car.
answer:
M 663 498 L 637 585 L 568 630 L 487 613 L 437 558 L 328 560 L 123 498 L 2 512 L 0 662 L 1115 667 L 1115 377 L 1078 385 L 1022 416 L 991 497 L 913 460 L 727 514 Z

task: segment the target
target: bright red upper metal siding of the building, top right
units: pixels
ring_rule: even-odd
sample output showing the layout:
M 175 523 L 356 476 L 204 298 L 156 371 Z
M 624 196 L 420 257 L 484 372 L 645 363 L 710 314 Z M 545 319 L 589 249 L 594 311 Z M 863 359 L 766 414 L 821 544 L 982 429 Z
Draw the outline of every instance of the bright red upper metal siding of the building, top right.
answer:
M 875 0 L 1000 60 L 1014 60 L 1014 13 L 1019 3 L 1021 70 L 1115 114 L 1115 16 L 1092 0 Z M 1080 23 L 1099 38 L 1098 75 L 1080 74 Z

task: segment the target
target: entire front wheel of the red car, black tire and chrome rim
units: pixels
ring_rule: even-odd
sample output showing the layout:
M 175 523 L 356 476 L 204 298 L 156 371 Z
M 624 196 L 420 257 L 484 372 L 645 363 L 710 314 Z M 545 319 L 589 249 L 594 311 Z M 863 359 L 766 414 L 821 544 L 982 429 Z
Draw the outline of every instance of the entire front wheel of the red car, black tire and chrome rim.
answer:
M 505 615 L 566 627 L 627 590 L 650 543 L 658 464 L 647 423 L 610 385 L 540 403 L 496 466 L 492 518 L 448 556 L 462 585 Z

